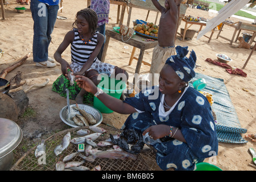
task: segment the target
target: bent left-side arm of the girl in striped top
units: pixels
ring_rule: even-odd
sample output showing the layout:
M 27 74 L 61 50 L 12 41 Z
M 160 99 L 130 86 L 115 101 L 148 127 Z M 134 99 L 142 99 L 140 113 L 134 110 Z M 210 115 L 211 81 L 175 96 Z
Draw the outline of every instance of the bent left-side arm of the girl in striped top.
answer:
M 60 46 L 57 48 L 57 51 L 54 53 L 54 58 L 55 60 L 61 64 L 61 72 L 64 76 L 67 77 L 67 68 L 71 69 L 70 65 L 66 60 L 64 60 L 61 57 L 61 54 L 65 51 L 65 49 L 69 46 L 69 44 L 73 41 L 74 39 L 74 32 L 69 31 L 65 37 L 63 42 L 60 44 Z

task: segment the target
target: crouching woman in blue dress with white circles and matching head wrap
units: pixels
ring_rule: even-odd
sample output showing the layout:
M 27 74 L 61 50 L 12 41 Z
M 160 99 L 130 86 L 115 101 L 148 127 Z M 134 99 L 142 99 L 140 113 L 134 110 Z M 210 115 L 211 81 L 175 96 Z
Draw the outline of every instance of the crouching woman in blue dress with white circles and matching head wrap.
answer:
M 189 58 L 185 57 L 187 47 L 177 46 L 176 52 L 162 68 L 159 86 L 123 102 L 102 93 L 84 77 L 78 76 L 77 84 L 117 113 L 130 114 L 122 129 L 160 139 L 152 145 L 160 168 L 194 170 L 196 163 L 217 155 L 218 140 L 207 98 L 188 85 L 195 77 L 195 52 Z

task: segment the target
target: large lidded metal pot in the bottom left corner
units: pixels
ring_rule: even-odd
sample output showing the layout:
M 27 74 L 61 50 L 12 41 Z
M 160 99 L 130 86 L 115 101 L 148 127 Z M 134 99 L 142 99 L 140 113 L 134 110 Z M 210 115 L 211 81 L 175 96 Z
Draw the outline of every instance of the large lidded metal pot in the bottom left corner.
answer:
M 0 118 L 0 170 L 9 170 L 13 164 L 13 150 L 22 140 L 22 130 L 10 119 Z

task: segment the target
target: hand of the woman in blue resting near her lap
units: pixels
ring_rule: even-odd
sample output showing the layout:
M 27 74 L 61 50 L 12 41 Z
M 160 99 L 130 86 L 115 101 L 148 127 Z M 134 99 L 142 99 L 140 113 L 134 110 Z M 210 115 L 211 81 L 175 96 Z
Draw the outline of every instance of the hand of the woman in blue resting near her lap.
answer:
M 168 125 L 154 125 L 148 127 L 146 130 L 144 130 L 143 135 L 148 133 L 148 135 L 153 138 L 154 140 L 163 138 L 167 135 L 169 135 L 170 132 L 170 126 Z

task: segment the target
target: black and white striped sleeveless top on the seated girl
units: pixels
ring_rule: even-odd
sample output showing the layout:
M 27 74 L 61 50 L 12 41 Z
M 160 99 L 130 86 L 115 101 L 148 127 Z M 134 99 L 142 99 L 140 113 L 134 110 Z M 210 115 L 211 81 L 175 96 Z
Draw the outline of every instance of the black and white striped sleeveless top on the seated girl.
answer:
M 75 38 L 71 43 L 71 61 L 84 65 L 98 44 L 98 31 L 95 32 L 92 39 L 90 39 L 90 42 L 86 44 L 80 39 L 77 28 L 73 28 L 73 31 L 75 33 Z M 95 57 L 93 63 L 96 61 L 96 59 L 97 57 Z

